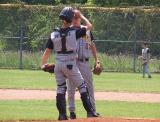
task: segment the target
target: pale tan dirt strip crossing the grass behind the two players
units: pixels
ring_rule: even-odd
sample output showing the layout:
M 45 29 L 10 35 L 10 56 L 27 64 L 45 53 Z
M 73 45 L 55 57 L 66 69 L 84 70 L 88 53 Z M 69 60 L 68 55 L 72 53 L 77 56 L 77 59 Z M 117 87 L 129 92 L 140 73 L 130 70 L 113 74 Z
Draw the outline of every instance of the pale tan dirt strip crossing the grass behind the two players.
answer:
M 56 92 L 49 90 L 0 89 L 0 100 L 52 100 L 55 98 Z M 160 94 L 154 93 L 95 92 L 95 98 L 96 100 L 160 103 Z M 76 99 L 80 99 L 78 92 Z

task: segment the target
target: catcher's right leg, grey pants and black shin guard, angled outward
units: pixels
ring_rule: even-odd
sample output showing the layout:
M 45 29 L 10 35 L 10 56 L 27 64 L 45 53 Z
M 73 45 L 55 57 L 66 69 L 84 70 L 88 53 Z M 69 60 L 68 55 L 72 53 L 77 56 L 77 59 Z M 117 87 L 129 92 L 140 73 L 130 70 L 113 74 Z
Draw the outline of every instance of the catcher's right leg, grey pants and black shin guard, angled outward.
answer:
M 71 65 L 72 65 L 72 68 L 71 68 Z M 76 62 L 72 62 L 72 63 L 70 62 L 69 64 L 67 64 L 66 62 L 66 66 L 67 66 L 66 68 L 67 78 L 69 79 L 69 81 L 74 82 L 76 87 L 79 89 L 81 100 L 85 110 L 87 111 L 87 113 L 90 113 L 91 117 L 97 117 L 97 114 L 95 113 L 92 107 L 90 99 L 88 98 L 86 85 L 76 65 Z

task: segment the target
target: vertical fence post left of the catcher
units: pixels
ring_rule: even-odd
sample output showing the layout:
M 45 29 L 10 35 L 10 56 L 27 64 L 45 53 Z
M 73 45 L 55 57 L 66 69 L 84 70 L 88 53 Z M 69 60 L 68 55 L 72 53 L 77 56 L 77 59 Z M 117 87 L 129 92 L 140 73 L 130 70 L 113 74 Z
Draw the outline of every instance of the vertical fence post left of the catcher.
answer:
M 21 12 L 21 16 L 20 16 L 20 47 L 19 47 L 19 69 L 23 69 L 23 39 L 24 39 L 24 35 L 23 35 L 23 12 Z

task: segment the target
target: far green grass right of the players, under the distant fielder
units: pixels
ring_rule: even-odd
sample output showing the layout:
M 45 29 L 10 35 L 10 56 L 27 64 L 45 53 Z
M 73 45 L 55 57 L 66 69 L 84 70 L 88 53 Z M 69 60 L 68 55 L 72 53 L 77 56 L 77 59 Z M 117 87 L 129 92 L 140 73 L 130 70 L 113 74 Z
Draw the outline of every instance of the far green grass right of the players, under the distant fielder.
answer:
M 103 73 L 94 76 L 98 91 L 157 92 L 160 93 L 160 75 L 153 74 L 152 79 L 143 79 L 135 73 Z

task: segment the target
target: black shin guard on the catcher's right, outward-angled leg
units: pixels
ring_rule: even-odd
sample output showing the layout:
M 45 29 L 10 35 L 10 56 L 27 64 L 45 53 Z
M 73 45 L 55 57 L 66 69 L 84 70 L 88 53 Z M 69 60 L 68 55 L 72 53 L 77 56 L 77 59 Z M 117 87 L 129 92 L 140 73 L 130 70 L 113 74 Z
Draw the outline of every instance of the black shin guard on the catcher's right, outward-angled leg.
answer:
M 90 102 L 87 92 L 81 93 L 81 100 L 82 100 L 85 110 L 90 115 L 88 117 L 99 117 L 92 107 L 92 104 Z

